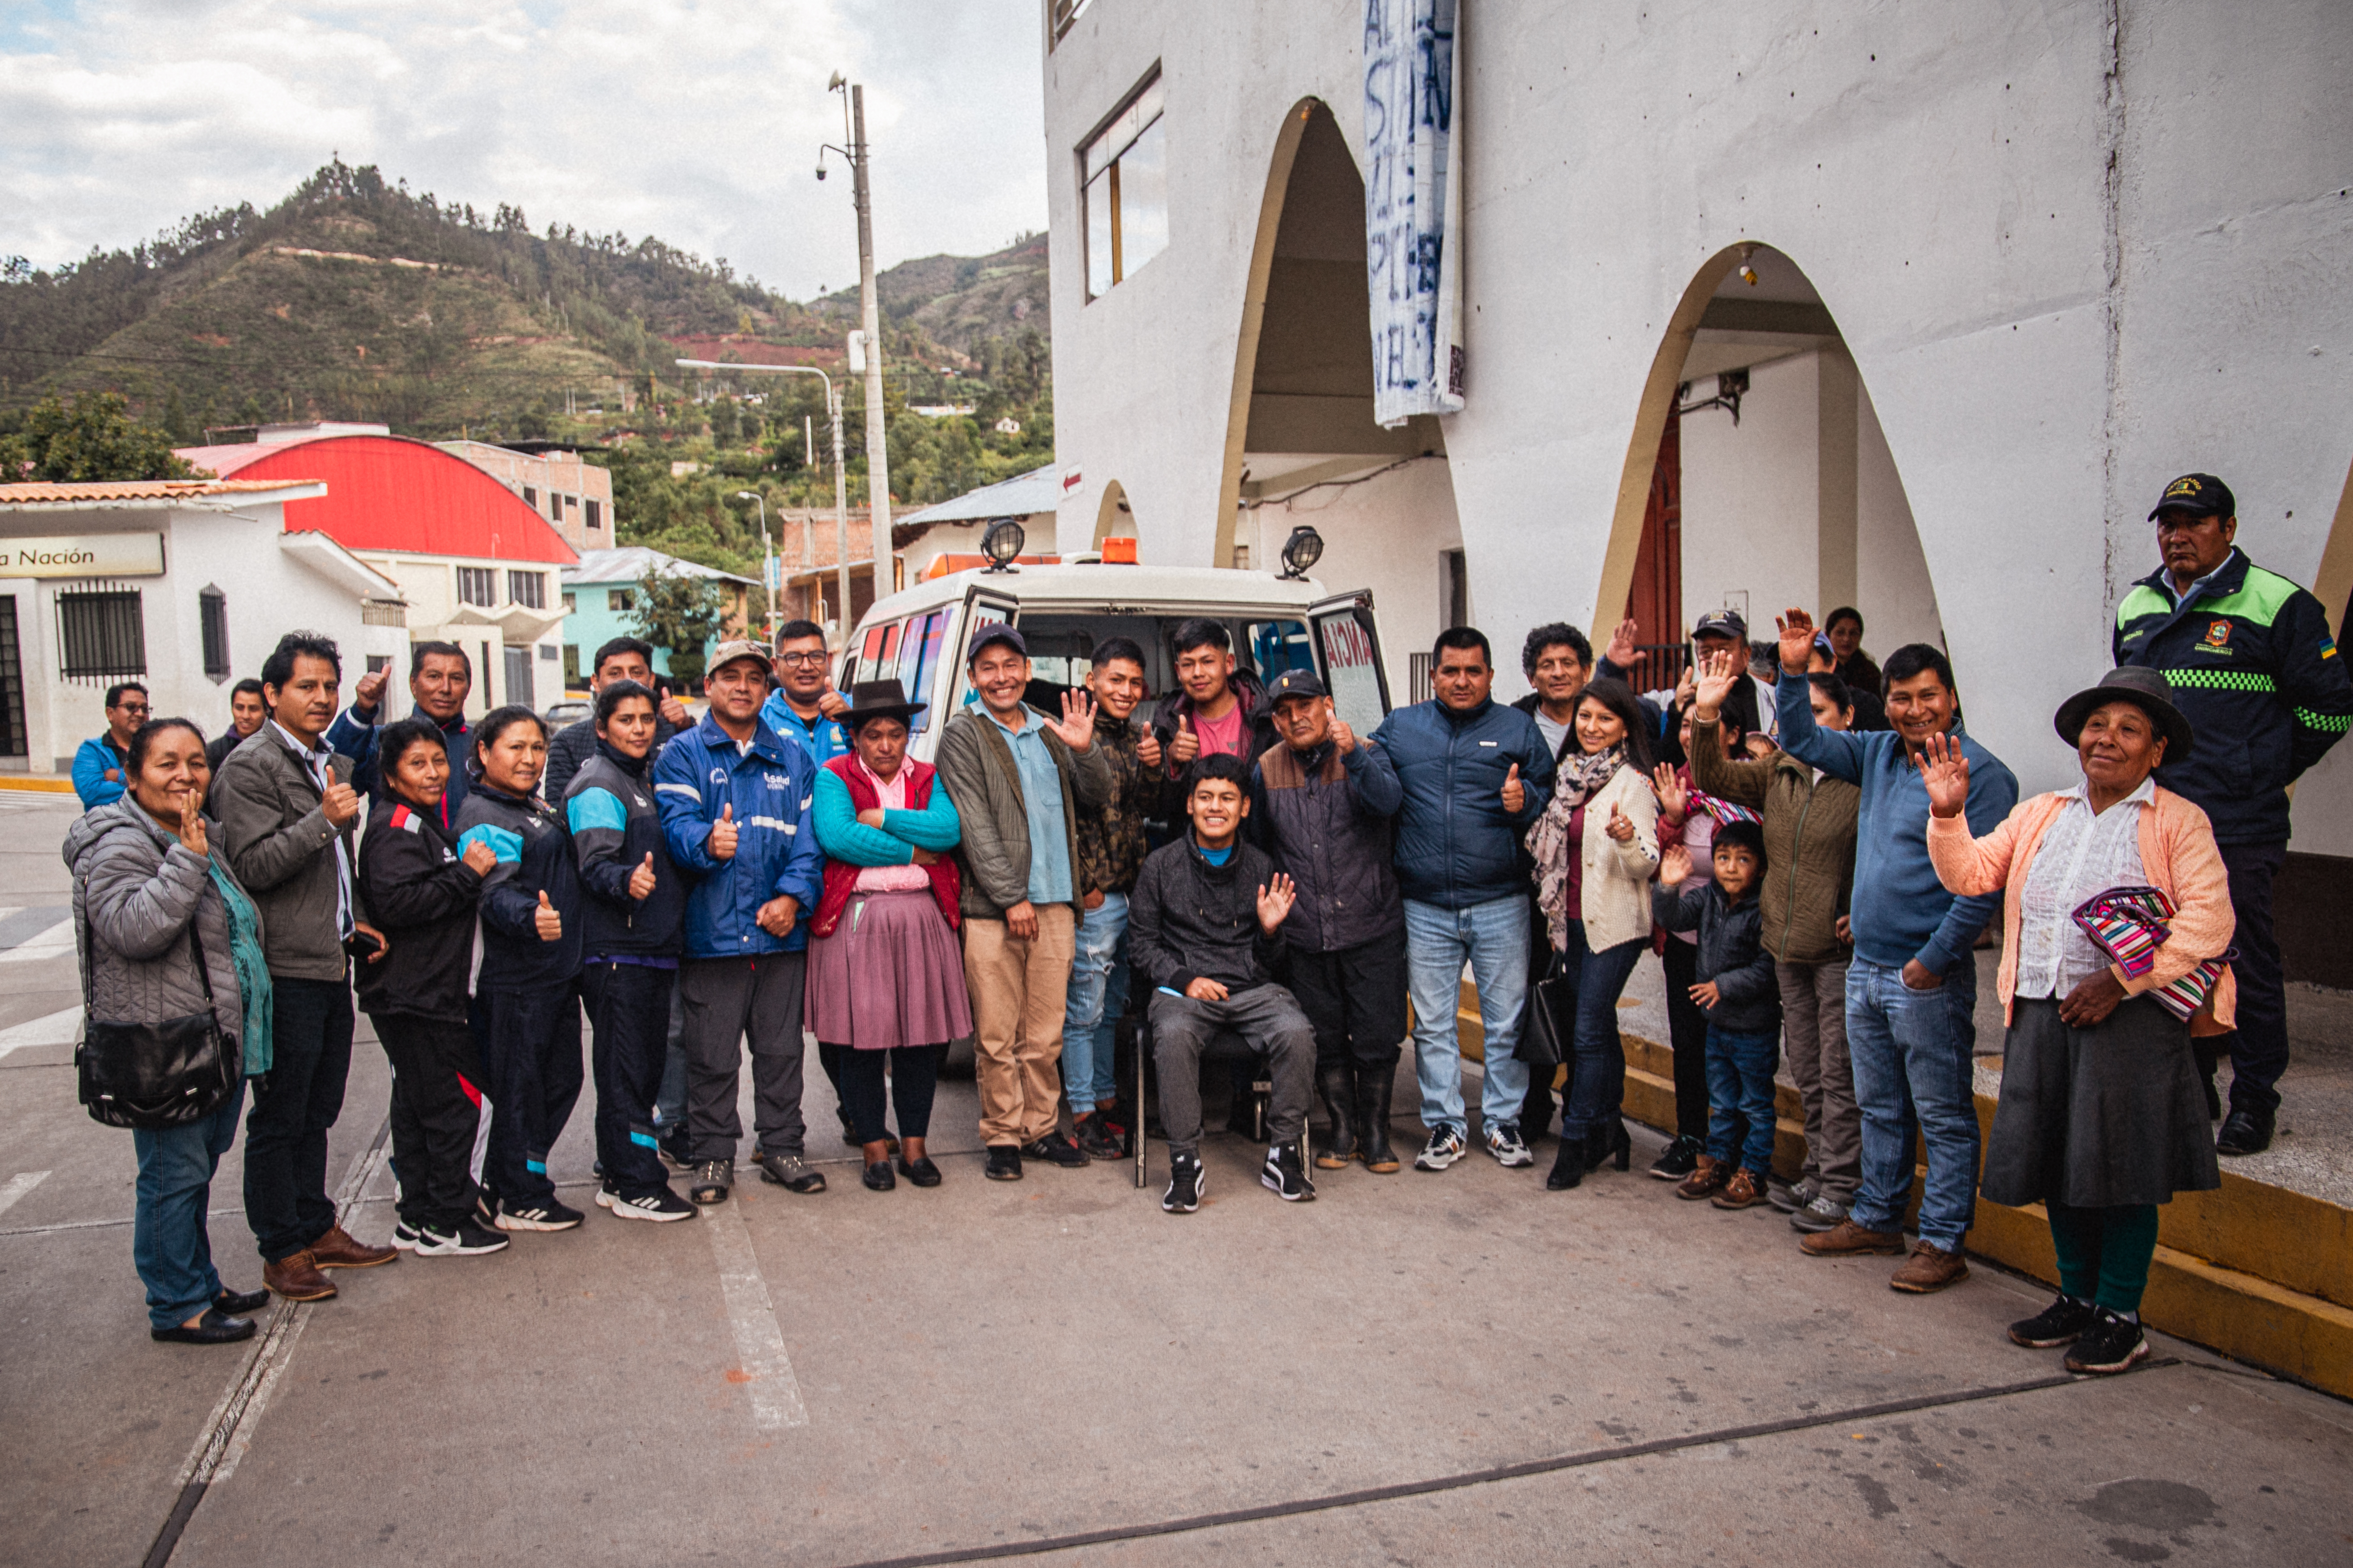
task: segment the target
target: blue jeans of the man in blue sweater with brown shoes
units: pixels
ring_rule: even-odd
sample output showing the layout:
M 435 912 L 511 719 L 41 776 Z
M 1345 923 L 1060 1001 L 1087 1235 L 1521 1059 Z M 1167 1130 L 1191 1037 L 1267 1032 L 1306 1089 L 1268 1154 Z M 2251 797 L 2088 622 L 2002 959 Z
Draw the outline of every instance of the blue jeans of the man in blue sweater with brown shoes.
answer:
M 1920 1239 L 1960 1248 L 1977 1213 L 1974 1011 L 1972 961 L 1927 992 L 1904 985 L 1901 969 L 1861 957 L 1847 964 L 1847 1053 L 1864 1110 L 1864 1187 L 1852 1218 L 1864 1229 L 1904 1227 L 1918 1131 L 1927 1143 Z

